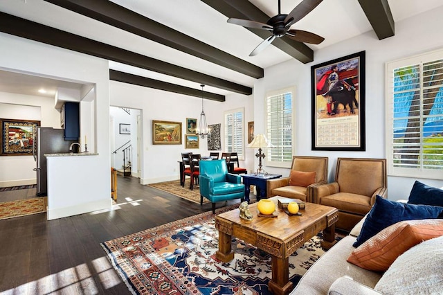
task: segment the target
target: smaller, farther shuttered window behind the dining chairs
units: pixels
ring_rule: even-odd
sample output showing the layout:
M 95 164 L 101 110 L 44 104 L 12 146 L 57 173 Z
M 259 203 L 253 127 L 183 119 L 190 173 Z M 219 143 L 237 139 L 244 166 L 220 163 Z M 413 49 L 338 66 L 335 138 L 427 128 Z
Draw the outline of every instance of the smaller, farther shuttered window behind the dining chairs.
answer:
M 237 152 L 244 159 L 244 109 L 224 113 L 224 151 Z

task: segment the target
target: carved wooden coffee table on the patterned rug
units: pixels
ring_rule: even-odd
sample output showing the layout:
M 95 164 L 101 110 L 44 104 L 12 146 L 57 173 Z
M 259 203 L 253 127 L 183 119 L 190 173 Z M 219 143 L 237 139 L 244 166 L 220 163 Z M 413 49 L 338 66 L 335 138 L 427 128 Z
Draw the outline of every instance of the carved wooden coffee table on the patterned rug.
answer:
M 277 197 L 270 199 L 277 207 Z M 232 236 L 253 244 L 272 256 L 272 279 L 269 290 L 273 294 L 288 294 L 293 289 L 289 281 L 289 256 L 305 242 L 323 230 L 321 246 L 329 249 L 335 244 L 334 223 L 338 220 L 338 210 L 333 207 L 305 203 L 301 216 L 287 215 L 276 208 L 278 217 L 258 217 L 257 203 L 249 205 L 253 220 L 239 217 L 235 209 L 215 217 L 215 227 L 219 231 L 219 250 L 216 256 L 223 262 L 233 260 Z

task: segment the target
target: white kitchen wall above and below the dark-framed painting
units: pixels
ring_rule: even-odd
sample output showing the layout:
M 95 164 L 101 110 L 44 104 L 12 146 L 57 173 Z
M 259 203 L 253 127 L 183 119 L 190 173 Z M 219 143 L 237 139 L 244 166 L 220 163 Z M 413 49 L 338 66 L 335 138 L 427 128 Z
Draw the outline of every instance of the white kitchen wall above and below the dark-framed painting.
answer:
M 41 126 L 60 128 L 53 98 L 0 92 L 0 118 L 39 120 Z M 0 157 L 0 187 L 36 184 L 36 163 L 30 156 Z

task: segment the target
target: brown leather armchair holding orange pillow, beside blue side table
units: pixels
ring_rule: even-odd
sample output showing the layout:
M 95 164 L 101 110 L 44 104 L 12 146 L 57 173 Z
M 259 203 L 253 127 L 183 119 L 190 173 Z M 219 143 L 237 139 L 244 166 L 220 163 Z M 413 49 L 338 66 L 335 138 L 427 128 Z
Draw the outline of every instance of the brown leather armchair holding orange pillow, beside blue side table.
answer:
M 327 157 L 293 156 L 291 170 L 300 172 L 316 172 L 315 182 L 309 186 L 290 185 L 290 177 L 269 179 L 266 181 L 266 196 L 282 196 L 314 202 L 311 199 L 311 188 L 327 183 Z

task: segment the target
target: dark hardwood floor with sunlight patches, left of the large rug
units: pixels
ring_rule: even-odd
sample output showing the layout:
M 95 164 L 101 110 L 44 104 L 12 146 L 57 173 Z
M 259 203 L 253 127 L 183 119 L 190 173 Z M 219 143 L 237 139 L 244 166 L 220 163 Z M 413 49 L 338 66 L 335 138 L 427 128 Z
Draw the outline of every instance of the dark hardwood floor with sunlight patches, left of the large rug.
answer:
M 100 242 L 211 210 L 210 203 L 200 206 L 134 177 L 118 177 L 117 191 L 111 211 L 50 221 L 46 213 L 0 220 L 0 292 L 130 294 Z

